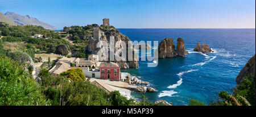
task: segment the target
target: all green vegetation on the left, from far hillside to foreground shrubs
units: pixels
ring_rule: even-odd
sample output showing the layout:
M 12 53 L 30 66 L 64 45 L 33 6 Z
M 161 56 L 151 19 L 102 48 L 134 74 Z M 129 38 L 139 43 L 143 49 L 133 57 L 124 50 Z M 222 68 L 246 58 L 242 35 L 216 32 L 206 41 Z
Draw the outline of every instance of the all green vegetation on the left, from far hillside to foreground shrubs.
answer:
M 75 51 L 75 57 L 88 57 L 85 47 L 94 27 L 98 25 L 64 27 L 64 31 L 75 38 L 76 44 L 72 45 L 62 38 L 67 35 L 59 35 L 41 26 L 9 26 L 0 22 L 0 105 L 153 105 L 144 96 L 141 102 L 137 102 L 126 99 L 119 91 L 108 94 L 86 81 L 81 69 L 69 69 L 52 76 L 47 69 L 56 61 L 51 62 L 51 58 L 41 65 L 40 80 L 34 80 L 31 62 L 33 59 L 38 61 L 35 60 L 35 53 L 55 52 L 57 45 L 67 45 L 69 51 Z M 43 37 L 32 37 L 35 34 L 42 34 Z M 6 43 L 24 45 L 11 51 L 3 49 Z

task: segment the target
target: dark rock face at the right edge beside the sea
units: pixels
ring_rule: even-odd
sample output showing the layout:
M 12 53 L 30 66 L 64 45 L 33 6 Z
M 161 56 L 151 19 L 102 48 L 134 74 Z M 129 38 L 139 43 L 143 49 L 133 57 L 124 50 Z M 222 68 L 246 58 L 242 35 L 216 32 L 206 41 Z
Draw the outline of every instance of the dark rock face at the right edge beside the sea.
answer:
M 240 71 L 236 78 L 237 85 L 239 86 L 243 80 L 243 77 L 249 76 L 249 74 L 255 75 L 255 55 L 250 58 L 245 67 Z

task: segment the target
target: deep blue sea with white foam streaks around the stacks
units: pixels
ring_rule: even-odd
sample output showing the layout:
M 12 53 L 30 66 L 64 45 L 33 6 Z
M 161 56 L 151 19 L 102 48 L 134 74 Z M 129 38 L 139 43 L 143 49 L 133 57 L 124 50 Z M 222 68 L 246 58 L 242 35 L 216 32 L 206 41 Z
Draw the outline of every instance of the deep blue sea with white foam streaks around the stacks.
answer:
M 118 29 L 132 41 L 159 41 L 165 37 L 185 41 L 189 54 L 186 57 L 160 59 L 158 66 L 148 68 L 139 61 L 138 69 L 122 70 L 157 89 L 155 93 L 144 93 L 148 101 L 159 99 L 174 105 L 189 105 L 189 99 L 209 104 L 218 99 L 218 92 L 230 93 L 236 86 L 236 77 L 246 62 L 255 55 L 255 29 Z M 214 53 L 193 52 L 196 43 L 208 44 Z M 153 46 L 153 45 L 152 45 Z M 140 58 L 141 51 L 137 51 Z M 153 52 L 153 49 L 152 49 Z M 143 54 L 142 54 L 143 55 Z M 141 99 L 142 93 L 132 93 Z

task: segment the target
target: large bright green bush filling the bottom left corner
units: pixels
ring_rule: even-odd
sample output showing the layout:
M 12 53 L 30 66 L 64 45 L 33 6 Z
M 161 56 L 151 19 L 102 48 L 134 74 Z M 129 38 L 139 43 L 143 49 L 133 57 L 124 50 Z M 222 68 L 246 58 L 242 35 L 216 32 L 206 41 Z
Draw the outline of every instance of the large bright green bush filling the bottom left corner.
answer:
M 10 58 L 0 58 L 0 105 L 49 105 L 38 83 Z

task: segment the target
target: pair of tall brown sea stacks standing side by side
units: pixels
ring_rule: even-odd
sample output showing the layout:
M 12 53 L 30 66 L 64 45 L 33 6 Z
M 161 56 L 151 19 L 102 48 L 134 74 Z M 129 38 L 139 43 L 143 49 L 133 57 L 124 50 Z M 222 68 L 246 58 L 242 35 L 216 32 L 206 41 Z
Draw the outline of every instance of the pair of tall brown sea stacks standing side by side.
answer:
M 177 39 L 177 48 L 175 50 L 174 39 L 166 38 L 158 46 L 158 58 L 172 58 L 176 56 L 185 57 L 188 51 L 185 49 L 184 40 Z

